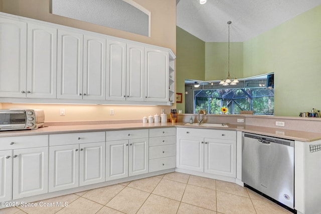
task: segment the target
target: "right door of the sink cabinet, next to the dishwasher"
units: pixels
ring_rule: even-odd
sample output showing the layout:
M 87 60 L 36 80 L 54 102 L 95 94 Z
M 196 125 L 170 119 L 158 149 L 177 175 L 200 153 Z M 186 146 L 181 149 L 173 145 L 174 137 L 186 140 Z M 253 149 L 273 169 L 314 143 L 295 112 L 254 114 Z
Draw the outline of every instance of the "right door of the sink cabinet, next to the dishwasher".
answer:
M 236 141 L 205 138 L 204 171 L 236 177 Z

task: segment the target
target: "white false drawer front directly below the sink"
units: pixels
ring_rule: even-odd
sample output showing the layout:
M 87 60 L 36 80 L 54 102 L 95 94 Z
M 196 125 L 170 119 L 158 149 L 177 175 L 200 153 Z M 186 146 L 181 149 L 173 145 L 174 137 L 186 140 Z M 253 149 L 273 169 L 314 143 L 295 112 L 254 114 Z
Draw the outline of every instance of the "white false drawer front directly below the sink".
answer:
M 236 140 L 236 131 L 177 128 L 177 136 Z

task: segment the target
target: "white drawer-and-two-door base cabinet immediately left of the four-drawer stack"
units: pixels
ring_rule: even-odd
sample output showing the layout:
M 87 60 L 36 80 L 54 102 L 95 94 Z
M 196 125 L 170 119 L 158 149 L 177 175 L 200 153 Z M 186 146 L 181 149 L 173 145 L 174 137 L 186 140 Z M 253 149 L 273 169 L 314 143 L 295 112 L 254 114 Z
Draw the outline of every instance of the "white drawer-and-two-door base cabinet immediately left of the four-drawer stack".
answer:
M 148 130 L 106 132 L 106 180 L 148 173 Z

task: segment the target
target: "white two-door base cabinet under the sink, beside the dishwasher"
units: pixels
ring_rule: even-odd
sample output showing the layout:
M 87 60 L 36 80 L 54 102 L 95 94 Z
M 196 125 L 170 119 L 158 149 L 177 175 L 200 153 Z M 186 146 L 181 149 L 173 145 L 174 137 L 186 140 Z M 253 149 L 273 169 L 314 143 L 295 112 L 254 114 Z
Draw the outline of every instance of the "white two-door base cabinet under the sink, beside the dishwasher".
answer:
M 177 168 L 236 177 L 234 131 L 178 128 L 177 151 Z

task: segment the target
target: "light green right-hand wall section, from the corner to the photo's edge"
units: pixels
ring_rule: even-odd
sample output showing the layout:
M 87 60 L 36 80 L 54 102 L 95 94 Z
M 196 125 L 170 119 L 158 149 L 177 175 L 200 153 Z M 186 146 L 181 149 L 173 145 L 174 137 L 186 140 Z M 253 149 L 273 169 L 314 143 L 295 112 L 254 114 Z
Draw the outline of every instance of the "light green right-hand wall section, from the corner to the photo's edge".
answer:
M 321 6 L 244 42 L 244 76 L 274 72 L 274 114 L 321 110 Z

